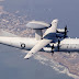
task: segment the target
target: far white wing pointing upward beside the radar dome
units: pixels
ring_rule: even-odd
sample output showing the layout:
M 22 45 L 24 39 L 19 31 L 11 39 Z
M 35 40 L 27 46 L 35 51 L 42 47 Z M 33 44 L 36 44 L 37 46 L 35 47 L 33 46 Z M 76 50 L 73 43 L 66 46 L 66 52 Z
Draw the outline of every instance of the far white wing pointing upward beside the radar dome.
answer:
M 58 20 L 57 19 L 53 20 L 52 26 L 46 30 L 44 36 L 47 35 L 47 34 L 49 34 L 49 33 L 56 33 L 57 24 L 58 24 Z

